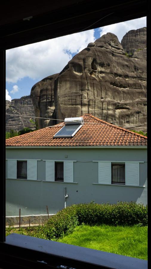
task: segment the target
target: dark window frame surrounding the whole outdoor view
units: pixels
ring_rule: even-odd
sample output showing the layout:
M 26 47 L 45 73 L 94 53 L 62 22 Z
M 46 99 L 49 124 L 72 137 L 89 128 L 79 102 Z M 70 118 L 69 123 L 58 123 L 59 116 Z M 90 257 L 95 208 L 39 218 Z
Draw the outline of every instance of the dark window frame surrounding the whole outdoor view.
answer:
M 81 1 L 79 1 L 79 2 L 81 2 Z M 130 20 L 130 19 L 136 19 L 138 17 L 147 15 L 147 88 L 150 89 L 150 58 L 151 58 L 150 57 L 150 2 L 149 1 L 147 2 L 147 6 L 146 6 L 145 11 L 144 11 L 144 6 L 146 4 L 146 1 L 141 1 L 141 4 L 138 3 L 142 7 L 142 13 L 138 12 L 138 10 L 137 10 L 137 8 L 138 8 L 137 1 L 132 1 L 132 2 L 135 2 L 134 5 L 133 5 L 134 8 L 132 8 L 132 6 L 131 6 L 132 4 L 131 4 L 130 1 L 128 3 L 127 2 L 125 3 L 125 6 L 127 8 L 127 9 L 124 10 L 125 16 L 122 16 L 123 8 L 121 8 L 121 7 L 118 8 L 118 5 L 119 5 L 118 1 L 115 1 L 115 6 L 112 6 L 112 7 L 110 7 L 110 5 L 107 3 L 107 11 L 108 11 L 108 13 L 112 12 L 112 11 L 116 11 L 116 15 L 113 18 L 111 18 L 110 20 L 108 20 L 108 21 L 105 20 L 105 22 L 102 22 L 102 21 L 101 21 L 101 23 L 99 22 L 100 23 L 99 25 L 98 24 L 96 24 L 95 26 L 93 25 L 93 27 L 101 27 L 101 26 L 104 26 L 104 25 L 114 24 L 114 23 L 117 23 L 117 22 L 122 22 L 122 21 Z M 90 3 L 88 3 L 87 6 L 88 6 L 88 10 L 91 10 L 91 12 L 93 13 L 93 7 L 94 7 L 93 1 L 90 1 Z M 14 9 L 16 8 L 15 4 L 13 5 L 13 7 L 14 7 Z M 81 29 L 81 22 L 82 22 L 82 25 L 86 25 L 86 26 L 90 25 L 90 22 L 87 22 L 87 23 L 84 24 L 84 20 L 83 20 L 83 17 L 82 17 L 82 16 L 84 16 L 84 14 L 86 14 L 86 16 L 87 16 L 87 10 L 84 11 L 84 9 L 86 9 L 86 8 L 87 7 L 86 7 L 86 5 L 84 3 L 84 5 L 82 6 L 81 9 L 78 7 L 78 12 L 75 9 L 77 14 L 79 14 L 79 12 L 81 12 L 80 13 L 81 17 L 78 18 L 79 23 L 80 23 L 80 25 L 79 25 L 80 29 Z M 103 6 L 103 8 L 104 8 L 104 6 Z M 70 13 L 70 8 L 66 8 L 66 9 L 67 9 L 67 12 L 69 14 Z M 100 13 L 101 8 L 97 7 L 97 9 L 98 9 L 98 12 Z M 129 10 L 129 12 L 127 12 L 127 10 Z M 135 10 L 135 12 L 133 11 L 133 13 L 132 13 L 132 10 Z M 12 11 L 13 11 L 13 9 L 12 9 Z M 2 9 L 2 12 L 3 12 L 3 9 Z M 30 11 L 30 12 L 32 12 L 32 11 Z M 57 13 L 58 12 L 56 12 L 56 13 L 54 12 L 54 17 L 56 16 L 56 18 L 58 17 Z M 67 17 L 66 14 L 65 14 L 65 16 Z M 74 18 L 74 16 L 73 16 L 73 18 Z M 40 22 L 40 20 L 41 20 L 41 18 L 39 19 L 39 22 Z M 93 22 L 94 21 L 93 21 L 93 18 L 92 18 L 91 23 L 93 23 Z M 20 21 L 19 21 L 19 23 L 21 24 Z M 62 20 L 60 20 L 58 25 L 61 26 L 61 24 L 62 24 Z M 1 88 L 2 88 L 2 98 L 1 98 L 1 101 L 2 101 L 2 106 L 1 106 L 2 115 L 5 115 L 5 105 L 4 105 L 5 104 L 5 60 L 6 60 L 5 49 L 14 48 L 14 47 L 17 47 L 19 45 L 27 45 L 27 44 L 30 44 L 30 43 L 33 43 L 33 42 L 46 40 L 46 39 L 49 39 L 50 36 L 51 36 L 51 38 L 53 38 L 54 37 L 53 34 L 55 34 L 55 33 L 56 33 L 57 36 L 62 36 L 62 35 L 65 35 L 67 33 L 69 33 L 69 34 L 74 33 L 79 29 L 78 27 L 75 28 L 75 24 L 76 24 L 75 22 L 70 23 L 70 21 L 67 20 L 67 25 L 63 25 L 62 30 L 59 29 L 58 25 L 57 25 L 57 28 L 56 28 L 56 29 L 58 29 L 58 31 L 55 29 L 55 27 L 52 27 L 51 31 L 50 31 L 51 34 L 47 34 L 47 30 L 44 31 L 45 28 L 42 28 L 41 31 L 39 29 L 39 30 L 37 30 L 38 37 L 36 37 L 36 38 L 33 35 L 33 33 L 30 33 L 30 26 L 29 26 L 29 29 L 27 29 L 27 33 L 25 35 L 24 35 L 24 33 L 22 34 L 22 31 L 21 31 L 22 25 L 21 25 L 20 34 L 19 34 L 19 30 L 18 30 L 18 31 L 15 32 L 16 36 L 13 37 L 12 39 L 10 37 L 11 35 L 10 36 L 8 35 L 7 38 L 3 39 L 3 44 L 1 46 L 1 51 L 0 51 L 0 60 L 1 60 L 0 61 L 0 69 L 1 69 L 0 77 L 1 77 Z M 28 25 L 30 25 L 30 23 Z M 67 30 L 67 26 L 70 27 L 70 30 Z M 9 27 L 10 27 L 10 25 L 8 25 L 8 28 Z M 14 29 L 17 29 L 17 27 L 18 27 L 18 24 L 14 27 Z M 92 29 L 93 27 L 91 26 L 90 29 Z M 2 30 L 3 30 L 3 28 L 5 29 L 5 25 L 4 25 L 4 27 L 2 27 Z M 64 29 L 66 29 L 66 31 Z M 29 35 L 28 35 L 28 32 L 29 32 Z M 13 31 L 12 31 L 12 33 L 13 33 Z M 23 39 L 25 41 L 22 41 L 22 43 L 21 42 L 19 43 L 19 40 L 22 37 L 23 37 Z M 148 178 L 149 178 L 150 172 L 151 172 L 151 166 L 150 166 L 150 145 L 151 145 L 151 143 L 150 143 L 150 118 L 151 118 L 150 102 L 151 102 L 151 97 L 150 97 L 150 91 L 148 90 L 147 91 L 147 124 L 148 124 L 147 127 L 148 127 L 148 137 L 149 137 L 148 146 L 147 146 L 147 154 L 148 154 L 147 173 L 148 173 Z M 16 252 L 14 253 L 14 257 L 16 257 L 15 258 L 16 265 L 20 264 L 22 266 L 22 268 L 24 268 L 24 266 L 22 264 L 22 260 L 19 262 L 19 259 L 21 258 L 21 255 L 24 252 L 26 252 L 32 257 L 31 254 L 33 254 L 35 252 L 32 249 L 25 250 L 22 247 L 15 247 L 13 245 L 9 245 L 9 244 L 4 243 L 5 242 L 5 218 L 4 218 L 4 216 L 5 216 L 5 117 L 2 117 L 2 127 L 3 127 L 3 142 L 2 142 L 2 150 L 1 150 L 1 153 L 2 153 L 1 160 L 3 162 L 3 171 L 2 171 L 3 172 L 3 176 L 2 176 L 3 180 L 1 181 L 1 188 L 0 188 L 0 192 L 1 192 L 1 195 L 0 195 L 0 198 L 1 198 L 1 203 L 0 203 L 1 216 L 0 217 L 1 217 L 1 224 L 3 224 L 3 228 L 2 228 L 2 233 L 0 233 L 0 242 L 1 242 L 0 246 L 4 250 L 3 253 L 4 253 L 4 256 L 5 256 L 4 259 L 3 259 L 3 267 L 6 268 L 5 265 L 8 262 L 8 259 L 10 259 L 10 264 L 13 264 L 13 259 L 11 258 L 11 256 L 12 256 L 11 254 L 14 253 L 14 250 L 15 250 Z M 149 185 L 149 189 L 150 189 L 150 182 L 148 182 L 148 185 Z M 149 197 L 148 197 L 148 199 L 149 199 Z M 150 199 L 148 200 L 148 205 L 150 205 Z M 18 255 L 16 253 L 18 253 Z M 51 256 L 51 257 L 56 260 L 55 257 L 53 257 L 53 256 Z M 49 255 L 49 258 L 50 258 L 50 255 Z M 57 259 L 59 259 L 59 257 L 57 257 Z M 27 262 L 27 258 L 26 259 L 24 258 L 24 260 L 26 262 L 26 265 L 31 265 L 32 264 L 31 261 Z M 68 261 L 68 259 L 66 259 L 66 261 Z M 76 261 L 74 261 L 74 262 L 76 263 Z M 78 263 L 77 266 L 78 265 L 83 266 L 82 262 Z M 91 268 L 91 265 L 89 263 L 86 263 L 86 266 L 87 266 L 87 268 Z M 19 268 L 21 268 L 21 267 L 19 267 Z M 42 266 L 41 266 L 41 268 L 42 268 Z M 44 268 L 45 268 L 45 265 L 44 265 Z M 82 268 L 82 267 L 78 267 L 78 268 Z M 93 268 L 95 268 L 94 264 L 93 264 Z M 104 268 L 104 267 L 99 266 L 99 268 Z M 107 268 L 109 268 L 109 267 L 107 267 Z

